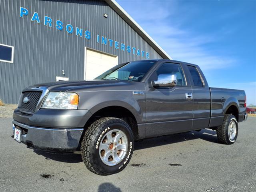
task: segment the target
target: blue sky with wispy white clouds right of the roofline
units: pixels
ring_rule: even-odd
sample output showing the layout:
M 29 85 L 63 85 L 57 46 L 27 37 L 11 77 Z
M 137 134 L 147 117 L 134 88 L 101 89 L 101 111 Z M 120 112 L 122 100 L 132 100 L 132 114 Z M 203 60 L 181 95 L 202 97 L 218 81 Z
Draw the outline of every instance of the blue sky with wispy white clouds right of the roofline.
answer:
M 117 0 L 172 57 L 200 66 L 210 87 L 256 105 L 256 1 Z

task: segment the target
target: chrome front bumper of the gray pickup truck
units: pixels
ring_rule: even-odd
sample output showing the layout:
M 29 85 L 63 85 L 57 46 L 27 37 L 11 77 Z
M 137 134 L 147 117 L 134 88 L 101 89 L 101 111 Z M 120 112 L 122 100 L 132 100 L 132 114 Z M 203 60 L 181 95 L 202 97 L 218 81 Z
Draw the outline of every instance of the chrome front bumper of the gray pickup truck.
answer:
M 13 121 L 22 130 L 21 142 L 27 146 L 50 152 L 74 152 L 78 148 L 84 128 L 35 127 Z

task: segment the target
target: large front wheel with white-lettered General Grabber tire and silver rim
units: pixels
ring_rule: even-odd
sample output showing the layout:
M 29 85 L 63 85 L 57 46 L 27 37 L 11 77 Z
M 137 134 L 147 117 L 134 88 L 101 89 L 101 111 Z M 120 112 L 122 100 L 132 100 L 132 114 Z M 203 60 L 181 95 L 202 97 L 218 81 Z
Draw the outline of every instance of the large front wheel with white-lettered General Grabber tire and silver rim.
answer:
M 123 120 L 106 117 L 96 120 L 86 130 L 81 144 L 81 156 L 86 167 L 98 175 L 122 171 L 130 161 L 134 136 Z

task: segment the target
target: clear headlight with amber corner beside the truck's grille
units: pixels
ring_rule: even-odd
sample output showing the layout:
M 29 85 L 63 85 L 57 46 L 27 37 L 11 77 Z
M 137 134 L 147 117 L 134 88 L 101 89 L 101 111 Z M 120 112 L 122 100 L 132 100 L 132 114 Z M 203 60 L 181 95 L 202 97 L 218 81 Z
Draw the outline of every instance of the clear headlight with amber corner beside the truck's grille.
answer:
M 78 94 L 70 92 L 49 92 L 42 108 L 45 109 L 77 109 Z

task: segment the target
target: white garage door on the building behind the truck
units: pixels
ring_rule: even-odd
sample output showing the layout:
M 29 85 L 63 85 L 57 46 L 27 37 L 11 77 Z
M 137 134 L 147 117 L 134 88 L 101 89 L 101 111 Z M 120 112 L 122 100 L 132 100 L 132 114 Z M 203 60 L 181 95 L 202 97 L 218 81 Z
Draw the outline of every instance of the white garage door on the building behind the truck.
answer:
M 85 48 L 85 80 L 92 80 L 118 64 L 118 56 L 112 56 Z

